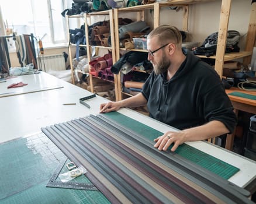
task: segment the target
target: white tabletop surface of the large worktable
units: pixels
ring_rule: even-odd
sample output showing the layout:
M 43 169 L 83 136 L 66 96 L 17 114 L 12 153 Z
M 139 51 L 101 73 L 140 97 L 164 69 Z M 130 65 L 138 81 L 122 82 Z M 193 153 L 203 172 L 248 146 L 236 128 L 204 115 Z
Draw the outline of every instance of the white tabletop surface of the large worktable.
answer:
M 28 85 L 7 89 L 12 83 L 18 82 L 28 83 Z M 44 126 L 70 121 L 89 114 L 98 114 L 99 105 L 106 99 L 99 96 L 89 99 L 87 103 L 91 105 L 90 109 L 79 103 L 80 98 L 91 94 L 85 89 L 44 72 L 7 79 L 6 82 L 0 83 L 0 143 L 34 135 L 39 133 L 40 128 Z M 63 105 L 63 103 L 76 104 Z M 122 108 L 119 112 L 161 132 L 174 130 L 171 126 L 128 108 Z M 245 187 L 256 177 L 255 161 L 207 142 L 187 142 L 187 144 L 240 168 L 240 171 L 229 179 L 239 187 Z

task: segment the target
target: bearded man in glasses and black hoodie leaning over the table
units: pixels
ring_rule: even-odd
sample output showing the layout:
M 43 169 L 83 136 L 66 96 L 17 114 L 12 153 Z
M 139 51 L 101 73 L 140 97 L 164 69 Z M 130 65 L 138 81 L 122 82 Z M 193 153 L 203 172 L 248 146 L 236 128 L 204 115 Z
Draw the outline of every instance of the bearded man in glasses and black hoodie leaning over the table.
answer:
M 147 105 L 150 117 L 181 131 L 165 132 L 154 147 L 174 152 L 187 141 L 205 140 L 234 131 L 236 115 L 219 75 L 212 66 L 182 48 L 180 31 L 169 25 L 147 36 L 148 60 L 154 71 L 141 93 L 101 104 L 100 112 Z

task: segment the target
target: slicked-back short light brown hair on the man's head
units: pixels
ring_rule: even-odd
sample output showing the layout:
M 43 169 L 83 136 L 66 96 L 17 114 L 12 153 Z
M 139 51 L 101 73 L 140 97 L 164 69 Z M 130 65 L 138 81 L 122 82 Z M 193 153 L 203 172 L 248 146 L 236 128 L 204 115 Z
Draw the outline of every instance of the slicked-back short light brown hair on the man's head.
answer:
M 174 43 L 177 45 L 182 44 L 181 32 L 175 26 L 161 25 L 155 28 L 148 34 L 147 38 L 153 38 L 157 36 L 158 43 Z

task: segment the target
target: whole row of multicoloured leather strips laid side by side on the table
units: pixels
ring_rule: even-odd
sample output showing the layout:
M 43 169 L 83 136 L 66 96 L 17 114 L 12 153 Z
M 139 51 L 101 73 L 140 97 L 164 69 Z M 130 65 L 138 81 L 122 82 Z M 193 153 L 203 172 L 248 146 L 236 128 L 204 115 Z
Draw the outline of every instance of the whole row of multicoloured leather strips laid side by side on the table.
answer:
M 185 203 L 210 203 L 212 201 L 248 203 L 249 201 L 230 188 L 228 182 L 222 182 L 214 175 L 194 167 L 174 154 L 155 150 L 153 142 L 101 115 L 75 119 L 71 122 L 42 128 L 42 131 L 68 157 L 71 156 L 75 161 L 86 164 L 85 168 L 89 167 L 87 169 L 92 178 L 95 180 L 98 178 L 98 181 L 101 181 L 101 184 L 94 184 L 108 199 L 111 197 L 109 193 L 113 192 L 116 201 L 122 203 L 125 199 L 129 202 L 127 198 L 133 203 L 141 202 L 141 199 L 148 203 L 166 203 L 167 198 L 169 202 Z M 155 164 L 151 162 L 151 159 Z M 161 162 L 159 167 L 159 162 L 155 159 Z M 179 173 L 176 180 L 172 172 L 174 175 Z M 137 181 L 136 178 L 139 177 L 136 174 L 140 175 Z M 216 181 L 210 181 L 213 178 Z M 184 180 L 188 180 L 189 185 L 182 182 Z M 155 194 L 151 190 L 154 187 L 153 183 L 156 184 Z M 218 183 L 223 186 L 218 186 Z M 160 192 L 160 189 L 164 189 L 165 193 Z M 203 189 L 202 193 L 198 189 Z M 137 196 L 136 191 L 143 198 Z M 158 196 L 160 194 L 162 198 Z

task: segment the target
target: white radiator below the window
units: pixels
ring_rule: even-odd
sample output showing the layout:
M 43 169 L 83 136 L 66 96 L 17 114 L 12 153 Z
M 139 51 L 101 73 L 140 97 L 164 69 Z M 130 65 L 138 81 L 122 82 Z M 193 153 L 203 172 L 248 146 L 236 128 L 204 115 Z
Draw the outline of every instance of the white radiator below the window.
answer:
M 44 72 L 66 69 L 64 54 L 39 56 L 37 57 L 37 64 Z

